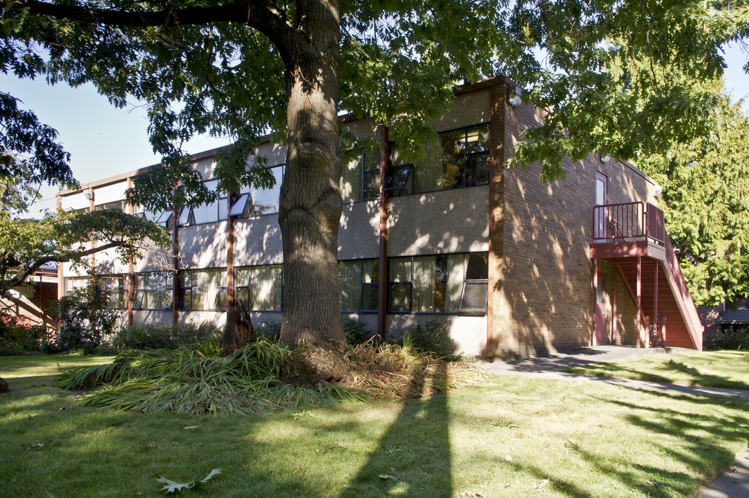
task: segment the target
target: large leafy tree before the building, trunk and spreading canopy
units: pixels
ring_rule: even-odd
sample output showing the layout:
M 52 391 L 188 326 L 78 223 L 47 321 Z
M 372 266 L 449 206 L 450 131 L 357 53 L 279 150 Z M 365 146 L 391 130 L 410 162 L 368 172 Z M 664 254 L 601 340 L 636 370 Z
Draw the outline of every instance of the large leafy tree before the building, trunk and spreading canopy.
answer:
M 720 47 L 749 34 L 749 5 L 703 0 L 0 0 L 0 68 L 77 86 L 112 104 L 144 101 L 162 168 L 131 199 L 158 207 L 184 184 L 210 199 L 181 145 L 229 136 L 219 190 L 270 181 L 248 168 L 258 136 L 288 144 L 279 224 L 282 340 L 342 340 L 336 238 L 341 110 L 389 125 L 401 150 L 456 83 L 503 74 L 548 114 L 515 163 L 563 177 L 562 157 L 622 159 L 715 136 Z M 665 76 L 664 76 L 665 75 Z M 160 186 L 157 186 L 160 185 Z M 169 193 L 169 194 L 168 194 Z M 179 193 L 179 195 L 183 195 Z M 337 323 L 336 323 L 337 322 Z

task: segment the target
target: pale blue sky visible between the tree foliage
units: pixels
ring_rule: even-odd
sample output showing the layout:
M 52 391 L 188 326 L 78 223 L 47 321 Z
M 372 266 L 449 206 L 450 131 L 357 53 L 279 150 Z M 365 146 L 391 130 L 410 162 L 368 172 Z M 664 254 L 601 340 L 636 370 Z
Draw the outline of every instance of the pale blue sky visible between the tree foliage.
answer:
M 745 99 L 745 113 L 749 113 L 749 75 L 742 65 L 747 58 L 738 46 L 727 47 L 726 89 L 733 98 Z M 150 166 L 160 159 L 148 143 L 148 120 L 142 107 L 115 109 L 91 85 L 70 89 L 0 74 L 0 89 L 19 98 L 23 107 L 58 130 L 59 140 L 71 154 L 73 174 L 82 183 Z M 228 139 L 199 137 L 188 144 L 187 151 L 226 144 Z M 53 197 L 55 190 L 46 189 L 46 196 Z

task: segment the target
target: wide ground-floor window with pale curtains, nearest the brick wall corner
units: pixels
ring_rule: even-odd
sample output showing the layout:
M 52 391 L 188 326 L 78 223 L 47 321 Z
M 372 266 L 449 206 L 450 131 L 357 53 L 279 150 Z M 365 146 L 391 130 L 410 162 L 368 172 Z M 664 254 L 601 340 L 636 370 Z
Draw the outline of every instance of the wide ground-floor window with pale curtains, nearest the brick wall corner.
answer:
M 483 313 L 487 257 L 480 253 L 392 258 L 389 313 Z

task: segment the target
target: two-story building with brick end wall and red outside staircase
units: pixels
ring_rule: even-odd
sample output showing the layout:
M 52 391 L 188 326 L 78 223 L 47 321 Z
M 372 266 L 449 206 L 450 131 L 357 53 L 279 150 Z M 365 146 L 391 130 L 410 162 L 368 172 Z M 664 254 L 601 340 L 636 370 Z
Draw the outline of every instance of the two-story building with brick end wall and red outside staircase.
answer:
M 701 349 L 702 326 L 657 208 L 658 184 L 604 154 L 565 160 L 565 181 L 549 184 L 539 180 L 540 166 L 508 168 L 521 131 L 542 122 L 517 94 L 505 78 L 458 89 L 451 110 L 431 123 L 438 142 L 417 162 L 404 160 L 385 125 L 343 119 L 386 153 L 361 151 L 341 178 L 342 317 L 381 335 L 436 320 L 448 326 L 456 353 L 475 356 L 647 347 L 656 321 L 666 345 Z M 216 185 L 215 153 L 192 157 L 208 187 Z M 222 324 L 228 293 L 255 326 L 281 319 L 285 147 L 267 139 L 258 154 L 275 187 L 200 208 L 148 213 L 127 205 L 124 190 L 145 169 L 59 193 L 61 208 L 122 208 L 172 229 L 177 254 L 154 250 L 130 264 L 97 254 L 131 323 Z M 58 277 L 61 293 L 85 282 L 69 266 Z

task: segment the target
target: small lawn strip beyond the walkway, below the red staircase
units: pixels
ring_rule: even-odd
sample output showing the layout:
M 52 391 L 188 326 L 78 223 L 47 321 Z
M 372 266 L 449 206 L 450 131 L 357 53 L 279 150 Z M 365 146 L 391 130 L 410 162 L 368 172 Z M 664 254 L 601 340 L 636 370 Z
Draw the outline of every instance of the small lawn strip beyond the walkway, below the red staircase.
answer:
M 569 368 L 573 374 L 749 391 L 749 351 L 650 354 Z

